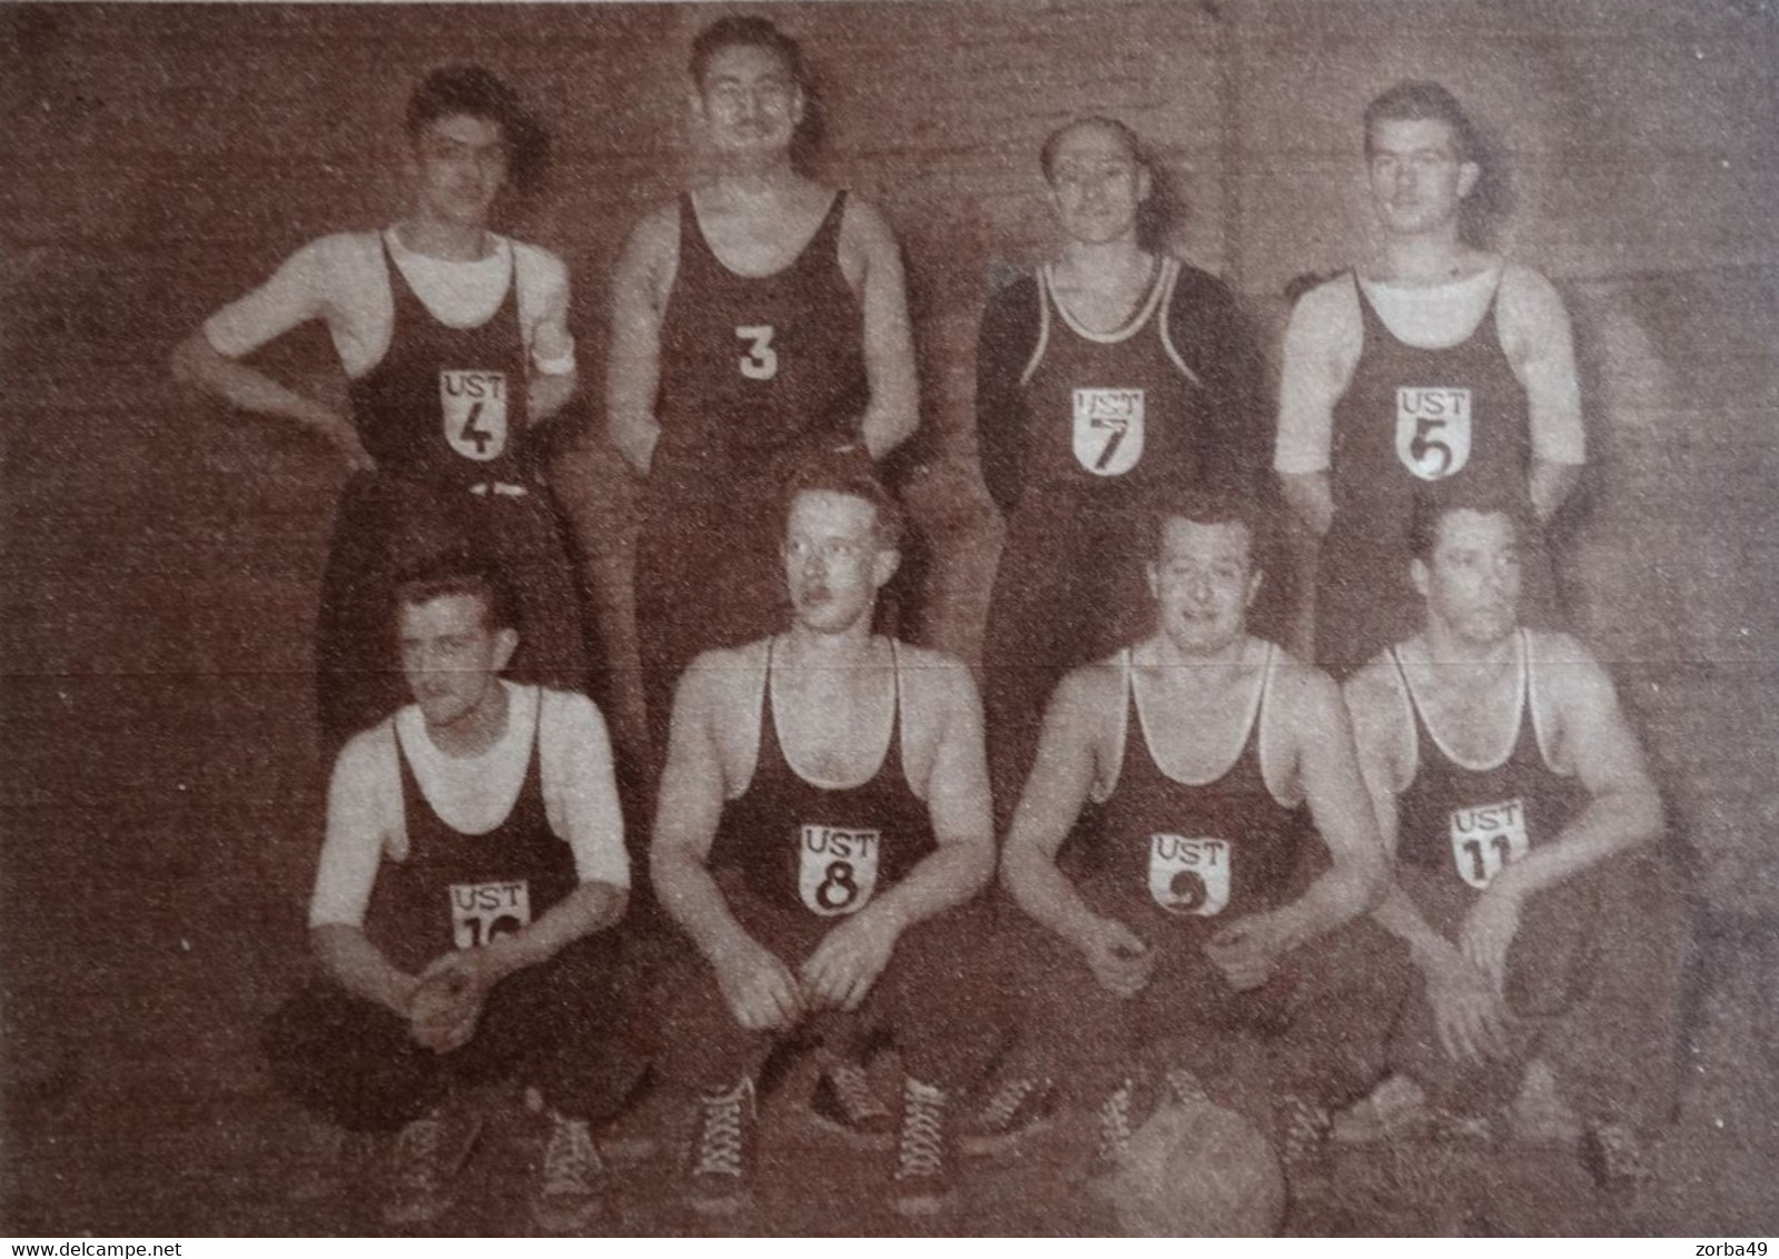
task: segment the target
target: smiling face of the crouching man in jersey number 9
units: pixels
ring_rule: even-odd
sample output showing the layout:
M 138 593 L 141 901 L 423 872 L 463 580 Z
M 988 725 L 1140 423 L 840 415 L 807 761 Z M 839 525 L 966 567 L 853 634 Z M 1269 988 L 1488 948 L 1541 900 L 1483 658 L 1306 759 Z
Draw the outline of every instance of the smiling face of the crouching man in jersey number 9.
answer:
M 1149 592 L 1160 630 L 1181 653 L 1210 656 L 1247 633 L 1247 605 L 1260 589 L 1252 539 L 1236 521 L 1167 521 L 1160 555 L 1149 567 Z

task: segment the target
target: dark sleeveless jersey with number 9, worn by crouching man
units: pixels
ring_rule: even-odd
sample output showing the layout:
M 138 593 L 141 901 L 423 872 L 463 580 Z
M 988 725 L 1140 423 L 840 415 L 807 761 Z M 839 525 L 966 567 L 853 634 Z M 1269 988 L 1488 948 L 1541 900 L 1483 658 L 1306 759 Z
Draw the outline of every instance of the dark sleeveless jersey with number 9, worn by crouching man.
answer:
M 1267 644 L 1240 750 L 1215 779 L 1181 782 L 1156 765 L 1124 654 L 1124 758 L 1098 809 L 1083 862 L 1091 900 L 1181 925 L 1288 900 L 1311 841 L 1302 804 L 1279 804 L 1260 766 L 1277 647 Z

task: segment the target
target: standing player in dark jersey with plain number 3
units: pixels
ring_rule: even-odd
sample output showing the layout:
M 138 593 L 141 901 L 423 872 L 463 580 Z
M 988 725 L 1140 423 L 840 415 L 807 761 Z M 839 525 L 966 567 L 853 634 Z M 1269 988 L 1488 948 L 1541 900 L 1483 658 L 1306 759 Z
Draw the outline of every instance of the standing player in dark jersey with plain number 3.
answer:
M 646 482 L 637 637 L 656 752 L 680 672 L 779 624 L 779 478 L 811 448 L 881 459 L 916 425 L 902 261 L 865 201 L 797 172 L 797 43 L 724 18 L 692 46 L 712 178 L 640 224 L 612 277 L 607 413 Z

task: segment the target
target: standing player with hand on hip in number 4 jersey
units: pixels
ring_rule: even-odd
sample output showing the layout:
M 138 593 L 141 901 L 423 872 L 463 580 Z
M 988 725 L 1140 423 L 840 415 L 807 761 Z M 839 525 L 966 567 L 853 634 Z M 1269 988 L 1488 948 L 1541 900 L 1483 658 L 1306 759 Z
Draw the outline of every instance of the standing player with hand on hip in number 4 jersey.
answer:
M 311 429 L 352 469 L 317 630 L 329 752 L 406 699 L 390 669 L 393 574 L 466 546 L 498 564 L 518 599 L 514 676 L 587 685 L 575 569 L 532 437 L 575 389 L 568 272 L 487 229 L 509 172 L 535 178 L 543 135 L 507 84 L 452 66 L 415 91 L 407 139 L 406 219 L 315 240 L 174 354 L 181 379 Z M 333 338 L 349 416 L 240 361 L 308 320 Z

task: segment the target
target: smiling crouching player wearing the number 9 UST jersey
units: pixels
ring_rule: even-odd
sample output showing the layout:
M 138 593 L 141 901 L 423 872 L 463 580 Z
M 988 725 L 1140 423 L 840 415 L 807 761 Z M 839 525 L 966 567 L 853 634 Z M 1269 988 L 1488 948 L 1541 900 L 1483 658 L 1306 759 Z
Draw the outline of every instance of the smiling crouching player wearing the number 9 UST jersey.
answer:
M 1165 1083 L 1254 1117 L 1293 1200 L 1325 1200 L 1329 1108 L 1382 1071 L 1363 1012 L 1405 982 L 1361 918 L 1384 859 L 1347 713 L 1247 633 L 1251 507 L 1169 496 L 1147 537 L 1155 633 L 1057 688 L 1007 836 L 1002 882 L 1046 928 L 1009 1071 L 1099 1108 L 1108 1174 Z

